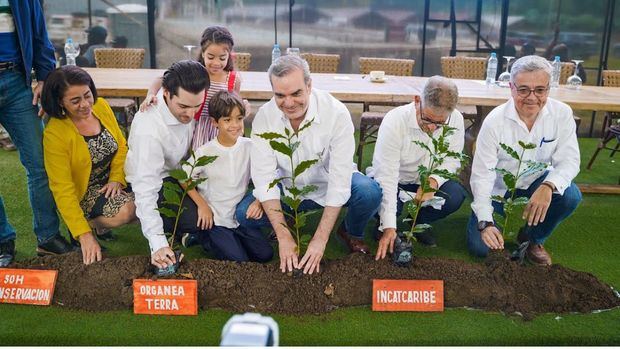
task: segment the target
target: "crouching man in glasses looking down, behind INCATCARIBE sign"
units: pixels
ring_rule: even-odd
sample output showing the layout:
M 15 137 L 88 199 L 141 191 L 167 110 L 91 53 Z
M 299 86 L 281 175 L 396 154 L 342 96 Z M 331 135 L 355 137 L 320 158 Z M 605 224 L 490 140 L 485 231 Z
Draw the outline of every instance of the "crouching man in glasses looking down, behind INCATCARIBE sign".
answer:
M 379 230 L 383 234 L 377 247 L 377 260 L 384 258 L 388 250 L 390 253 L 394 250 L 396 219 L 403 209 L 403 202 L 399 200 L 401 191 L 412 193 L 417 200 L 425 201 L 433 196 L 446 200 L 441 208 L 423 207 L 416 223 L 444 218 L 458 210 L 465 200 L 465 190 L 458 182 L 438 176 L 429 179 L 431 187 L 438 191 L 422 196 L 418 166 L 428 166 L 429 154 L 413 143 L 420 141 L 432 149 L 431 136 L 436 138 L 442 127 L 450 126 L 455 129 L 447 139 L 450 150 L 462 152 L 464 125 L 463 115 L 455 109 L 458 99 L 458 89 L 452 81 L 433 76 L 424 86 L 421 99 L 416 96 L 414 102 L 390 110 L 381 122 L 372 167 L 366 171 L 383 190 L 379 208 Z M 450 173 L 456 173 L 460 167 L 460 162 L 452 158 L 440 166 Z M 416 238 L 424 245 L 436 245 L 430 231 L 416 234 Z

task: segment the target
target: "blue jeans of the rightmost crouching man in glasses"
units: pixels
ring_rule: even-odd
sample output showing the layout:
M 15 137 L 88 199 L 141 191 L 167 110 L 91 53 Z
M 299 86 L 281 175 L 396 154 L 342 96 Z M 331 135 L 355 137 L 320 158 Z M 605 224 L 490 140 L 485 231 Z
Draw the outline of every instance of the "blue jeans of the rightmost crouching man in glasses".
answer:
M 532 194 L 534 194 L 536 189 L 538 189 L 540 184 L 545 180 L 545 177 L 547 177 L 546 174 L 534 181 L 534 183 L 525 190 L 517 189 L 516 196 L 532 197 Z M 505 197 L 508 198 L 509 194 L 506 193 Z M 542 223 L 538 223 L 538 225 L 526 225 L 526 231 L 530 242 L 534 244 L 543 244 L 551 233 L 553 233 L 553 230 L 555 230 L 558 224 L 575 211 L 580 202 L 581 192 L 575 183 L 571 183 L 570 187 L 566 188 L 564 195 L 553 194 L 545 220 Z M 493 210 L 502 216 L 504 215 L 503 205 L 496 201 L 493 201 Z M 478 257 L 486 257 L 489 253 L 489 247 L 482 241 L 480 232 L 478 231 L 478 217 L 476 217 L 476 214 L 473 212 L 467 223 L 467 249 L 469 253 Z

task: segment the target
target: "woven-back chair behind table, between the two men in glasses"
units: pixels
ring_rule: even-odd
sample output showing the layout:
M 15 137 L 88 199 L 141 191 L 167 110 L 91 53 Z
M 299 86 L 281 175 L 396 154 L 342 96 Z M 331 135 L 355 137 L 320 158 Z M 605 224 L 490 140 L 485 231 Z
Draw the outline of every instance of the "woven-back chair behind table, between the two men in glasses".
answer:
M 487 59 L 485 57 L 441 57 L 441 74 L 451 79 L 484 80 L 486 78 Z M 479 116 L 478 108 L 473 105 L 457 105 L 470 126 Z

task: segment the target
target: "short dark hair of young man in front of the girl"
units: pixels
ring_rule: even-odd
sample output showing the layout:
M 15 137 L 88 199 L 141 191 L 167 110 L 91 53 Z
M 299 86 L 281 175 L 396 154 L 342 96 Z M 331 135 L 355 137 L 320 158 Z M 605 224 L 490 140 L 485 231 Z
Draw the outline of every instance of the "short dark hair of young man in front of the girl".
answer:
M 209 88 L 209 74 L 205 67 L 196 61 L 178 61 L 164 72 L 161 85 L 171 97 L 179 93 L 179 87 L 189 93 L 198 94 Z

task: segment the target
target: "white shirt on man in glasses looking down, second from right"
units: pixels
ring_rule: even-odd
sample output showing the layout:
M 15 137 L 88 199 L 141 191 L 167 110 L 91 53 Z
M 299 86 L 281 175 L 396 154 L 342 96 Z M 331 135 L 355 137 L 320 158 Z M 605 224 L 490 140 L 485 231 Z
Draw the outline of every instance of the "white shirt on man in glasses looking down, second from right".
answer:
M 456 129 L 448 138 L 450 150 L 462 152 L 463 115 L 458 110 L 454 110 L 449 118 L 449 126 Z M 441 132 L 441 129 L 435 130 L 434 137 L 438 137 Z M 379 127 L 372 167 L 366 169 L 366 173 L 373 177 L 383 190 L 379 208 L 382 229 L 396 228 L 398 184 L 420 184 L 418 166 L 429 165 L 428 152 L 413 143 L 416 140 L 433 149 L 431 138 L 418 125 L 415 103 L 396 107 L 385 115 Z M 459 167 L 460 162 L 450 158 L 446 159 L 439 168 L 456 173 Z M 447 181 L 443 177 L 433 176 L 433 178 L 439 186 Z

